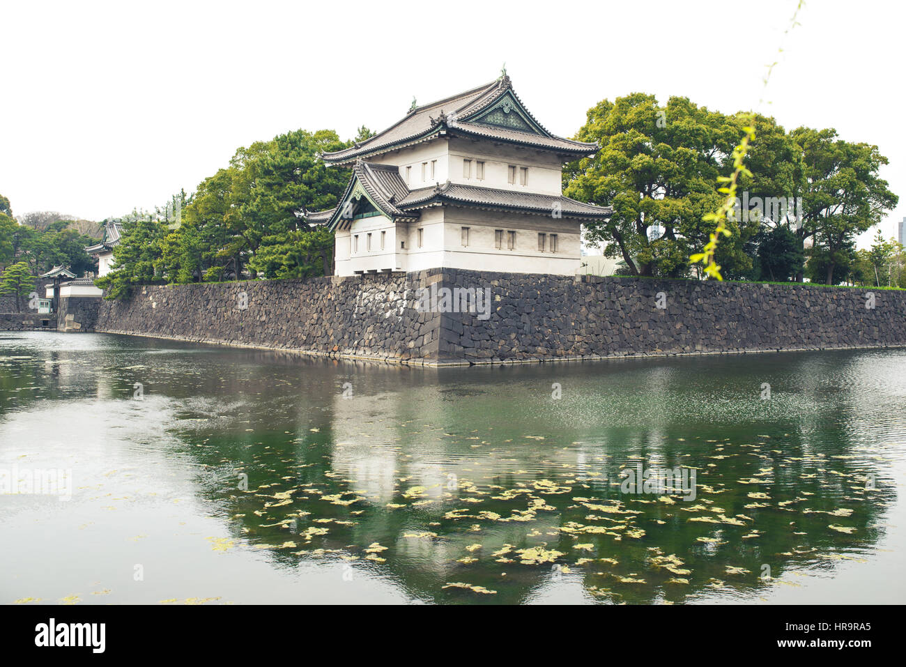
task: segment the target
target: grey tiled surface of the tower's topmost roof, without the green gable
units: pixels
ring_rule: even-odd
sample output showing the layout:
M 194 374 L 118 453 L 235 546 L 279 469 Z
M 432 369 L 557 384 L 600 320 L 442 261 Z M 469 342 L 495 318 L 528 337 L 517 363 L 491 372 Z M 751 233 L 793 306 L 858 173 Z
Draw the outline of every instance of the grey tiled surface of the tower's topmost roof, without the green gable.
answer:
M 417 107 L 415 110 L 410 111 L 401 121 L 396 122 L 387 130 L 371 137 L 371 139 L 362 141 L 348 149 L 324 153 L 322 156 L 323 160 L 328 164 L 350 164 L 356 158 L 380 155 L 388 150 L 432 139 L 440 131 L 445 130 L 450 131 L 451 134 L 457 134 L 459 131 L 469 136 L 504 140 L 576 155 L 598 150 L 598 145 L 595 143 L 563 139 L 551 134 L 540 123 L 535 121 L 535 118 L 527 110 L 525 111 L 526 114 L 542 134 L 469 122 L 469 119 L 474 120 L 479 111 L 496 102 L 506 92 L 511 92 L 518 100 L 516 92 L 512 92 L 512 85 L 508 76 L 478 86 L 470 91 L 460 92 L 458 95 L 453 95 L 439 102 L 431 102 Z

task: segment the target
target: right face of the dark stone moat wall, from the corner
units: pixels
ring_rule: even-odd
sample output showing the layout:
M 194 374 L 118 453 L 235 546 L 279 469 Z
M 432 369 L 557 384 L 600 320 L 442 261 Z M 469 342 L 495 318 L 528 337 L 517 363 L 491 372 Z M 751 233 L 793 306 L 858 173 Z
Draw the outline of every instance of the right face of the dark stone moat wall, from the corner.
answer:
M 469 271 L 443 284 L 487 285 L 493 300 L 487 320 L 444 315 L 448 361 L 906 345 L 906 291 Z

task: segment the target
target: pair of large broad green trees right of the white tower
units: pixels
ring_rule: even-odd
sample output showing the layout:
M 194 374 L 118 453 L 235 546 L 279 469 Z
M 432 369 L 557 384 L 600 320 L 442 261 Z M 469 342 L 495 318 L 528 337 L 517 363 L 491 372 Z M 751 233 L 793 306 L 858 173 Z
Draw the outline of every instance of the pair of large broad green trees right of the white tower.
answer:
M 717 179 L 743 122 L 742 113 L 708 111 L 683 97 L 662 106 L 641 92 L 595 105 L 575 139 L 601 150 L 564 168 L 566 196 L 614 209 L 585 227 L 587 240 L 622 257 L 631 275 L 689 275 L 689 255 L 713 231 L 702 217 L 722 199 Z M 746 158 L 752 176 L 739 181 L 743 202 L 728 219 L 732 236 L 721 240 L 717 263 L 730 278 L 802 280 L 807 257 L 813 280 L 839 282 L 855 237 L 896 206 L 878 176 L 887 159 L 834 130 L 787 132 L 757 114 L 755 127 Z

